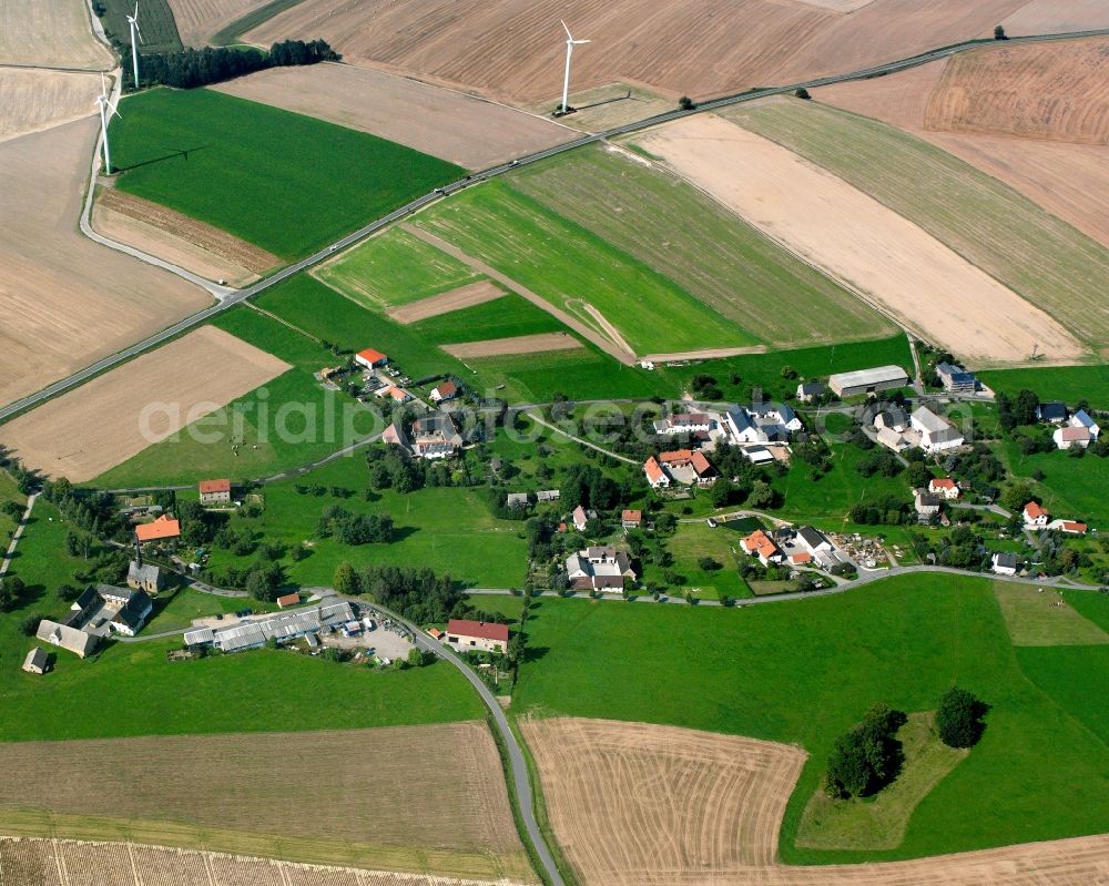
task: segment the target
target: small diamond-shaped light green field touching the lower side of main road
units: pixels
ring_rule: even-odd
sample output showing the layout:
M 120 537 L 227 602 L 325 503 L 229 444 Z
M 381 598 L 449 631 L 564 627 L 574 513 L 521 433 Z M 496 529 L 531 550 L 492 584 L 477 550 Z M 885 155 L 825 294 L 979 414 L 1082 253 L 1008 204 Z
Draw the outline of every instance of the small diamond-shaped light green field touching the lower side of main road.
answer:
M 372 310 L 407 305 L 481 278 L 468 265 L 399 227 L 343 253 L 313 276 Z

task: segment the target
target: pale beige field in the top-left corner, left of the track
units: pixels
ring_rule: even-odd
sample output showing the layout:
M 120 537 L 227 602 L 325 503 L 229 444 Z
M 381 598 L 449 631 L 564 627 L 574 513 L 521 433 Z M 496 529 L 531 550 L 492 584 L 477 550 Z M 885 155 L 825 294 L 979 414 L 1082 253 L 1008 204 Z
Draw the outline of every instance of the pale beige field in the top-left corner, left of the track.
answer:
M 85 0 L 3 0 L 0 64 L 109 71 L 108 47 L 92 33 Z

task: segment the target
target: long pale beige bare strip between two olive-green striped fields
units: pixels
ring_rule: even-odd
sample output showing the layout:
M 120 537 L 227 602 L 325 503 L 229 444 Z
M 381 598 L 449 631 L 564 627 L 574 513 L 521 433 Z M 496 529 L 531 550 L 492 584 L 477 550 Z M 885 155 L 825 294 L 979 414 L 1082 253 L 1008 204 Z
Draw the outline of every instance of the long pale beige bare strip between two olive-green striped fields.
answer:
M 1082 354 L 1046 313 L 842 179 L 715 116 L 639 143 L 928 340 L 971 364 Z

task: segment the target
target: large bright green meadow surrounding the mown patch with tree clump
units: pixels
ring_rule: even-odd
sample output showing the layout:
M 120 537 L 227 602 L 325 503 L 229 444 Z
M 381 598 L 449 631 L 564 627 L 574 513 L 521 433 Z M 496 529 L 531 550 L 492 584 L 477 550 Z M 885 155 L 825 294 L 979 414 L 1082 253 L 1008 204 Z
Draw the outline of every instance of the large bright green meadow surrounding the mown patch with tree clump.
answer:
M 1085 614 L 1109 618 L 1109 598 L 1081 599 Z M 743 610 L 543 599 L 528 646 L 518 715 L 668 723 L 808 751 L 783 825 L 786 863 L 916 857 L 1109 828 L 1107 736 L 1083 725 L 1109 724 L 1103 693 L 1089 691 L 1091 679 L 1109 676 L 1109 648 L 1046 650 L 1070 654 L 1055 659 L 1054 676 L 1045 665 L 1030 680 L 1021 665 L 1040 650 L 1014 650 L 985 579 L 905 577 Z M 1045 691 L 1049 676 L 1069 683 L 1068 694 Z M 801 814 L 835 737 L 876 702 L 932 710 L 952 683 L 991 705 L 986 733 L 917 805 L 901 845 L 797 848 Z

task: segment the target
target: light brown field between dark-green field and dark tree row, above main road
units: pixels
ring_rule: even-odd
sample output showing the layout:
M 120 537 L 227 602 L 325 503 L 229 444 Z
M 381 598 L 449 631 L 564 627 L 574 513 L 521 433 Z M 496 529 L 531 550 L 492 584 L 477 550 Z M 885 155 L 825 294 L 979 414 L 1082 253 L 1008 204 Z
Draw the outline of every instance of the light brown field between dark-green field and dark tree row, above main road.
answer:
M 574 133 L 502 104 L 349 64 L 271 68 L 214 89 L 362 130 L 470 170 Z

